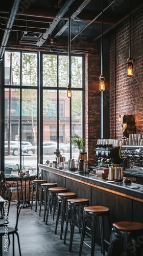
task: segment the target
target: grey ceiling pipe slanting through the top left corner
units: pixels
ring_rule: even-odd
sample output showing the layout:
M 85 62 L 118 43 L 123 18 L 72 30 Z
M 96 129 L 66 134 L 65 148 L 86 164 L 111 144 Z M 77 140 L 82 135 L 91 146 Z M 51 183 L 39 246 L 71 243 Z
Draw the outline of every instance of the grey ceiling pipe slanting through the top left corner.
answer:
M 6 46 L 7 46 L 7 42 L 8 42 L 9 35 L 10 35 L 11 29 L 12 29 L 12 25 L 14 23 L 14 19 L 15 19 L 17 10 L 18 10 L 19 3 L 20 3 L 20 0 L 15 0 L 14 4 L 12 6 L 12 9 L 11 9 L 11 13 L 10 13 L 10 16 L 9 16 L 9 19 L 8 19 L 8 22 L 6 25 L 6 29 L 4 31 L 2 43 L 1 43 L 0 62 L 3 60 L 3 55 L 5 52 Z

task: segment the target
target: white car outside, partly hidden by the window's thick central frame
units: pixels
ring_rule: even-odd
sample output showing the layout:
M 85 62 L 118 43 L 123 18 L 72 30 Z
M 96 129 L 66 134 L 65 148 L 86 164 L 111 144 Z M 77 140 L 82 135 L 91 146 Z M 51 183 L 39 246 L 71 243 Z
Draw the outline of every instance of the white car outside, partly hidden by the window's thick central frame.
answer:
M 55 150 L 57 148 L 57 142 L 56 141 L 45 141 L 43 142 L 43 154 L 45 155 L 52 155 L 54 154 Z M 59 150 L 61 152 L 61 155 L 66 152 L 66 147 L 64 147 L 63 143 L 59 143 Z M 28 154 L 35 154 L 37 151 L 37 146 L 32 146 L 26 150 L 24 153 Z

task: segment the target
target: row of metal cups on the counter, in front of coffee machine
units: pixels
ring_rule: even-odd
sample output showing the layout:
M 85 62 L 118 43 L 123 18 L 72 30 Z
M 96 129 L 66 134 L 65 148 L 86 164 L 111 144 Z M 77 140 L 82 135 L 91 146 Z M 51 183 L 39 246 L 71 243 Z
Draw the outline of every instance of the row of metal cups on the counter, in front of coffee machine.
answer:
M 124 168 L 123 167 L 109 166 L 108 180 L 122 181 L 123 176 L 124 176 Z

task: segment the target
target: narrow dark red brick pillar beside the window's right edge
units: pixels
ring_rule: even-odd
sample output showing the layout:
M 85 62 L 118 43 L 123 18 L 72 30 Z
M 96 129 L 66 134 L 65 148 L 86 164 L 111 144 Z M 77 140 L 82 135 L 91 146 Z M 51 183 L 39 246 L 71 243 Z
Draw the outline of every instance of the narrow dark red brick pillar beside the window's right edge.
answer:
M 85 60 L 85 118 L 86 118 L 86 147 L 88 148 L 89 165 L 94 165 L 93 150 L 100 138 L 100 57 L 97 53 L 86 54 Z

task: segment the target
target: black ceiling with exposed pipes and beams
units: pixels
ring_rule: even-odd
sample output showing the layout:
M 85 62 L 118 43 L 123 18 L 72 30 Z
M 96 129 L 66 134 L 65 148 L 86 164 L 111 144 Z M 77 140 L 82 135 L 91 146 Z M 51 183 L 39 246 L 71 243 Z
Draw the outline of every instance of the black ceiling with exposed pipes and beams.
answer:
M 103 32 L 129 19 L 130 0 L 103 0 Z M 68 44 L 69 12 L 71 42 L 95 42 L 101 36 L 101 0 L 1 0 L 1 47 L 50 47 Z M 131 14 L 143 7 L 131 0 Z M 17 10 L 16 10 L 17 8 Z M 14 11 L 16 13 L 14 14 Z M 7 28 L 7 25 L 9 27 Z M 7 38 L 6 38 L 7 37 Z

